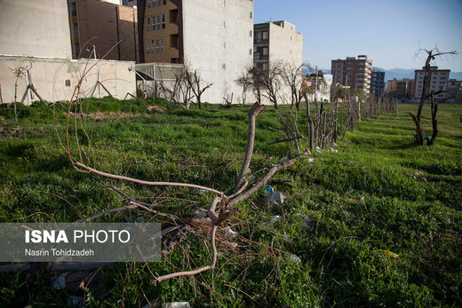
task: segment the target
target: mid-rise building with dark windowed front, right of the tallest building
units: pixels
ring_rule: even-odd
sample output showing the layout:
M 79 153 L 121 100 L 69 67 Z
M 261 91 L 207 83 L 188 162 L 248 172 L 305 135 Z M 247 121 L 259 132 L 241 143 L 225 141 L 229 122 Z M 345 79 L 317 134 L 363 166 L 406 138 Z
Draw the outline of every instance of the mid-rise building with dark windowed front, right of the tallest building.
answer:
M 270 62 L 284 61 L 299 67 L 303 63 L 303 36 L 295 25 L 274 21 L 253 26 L 253 65 L 267 70 Z

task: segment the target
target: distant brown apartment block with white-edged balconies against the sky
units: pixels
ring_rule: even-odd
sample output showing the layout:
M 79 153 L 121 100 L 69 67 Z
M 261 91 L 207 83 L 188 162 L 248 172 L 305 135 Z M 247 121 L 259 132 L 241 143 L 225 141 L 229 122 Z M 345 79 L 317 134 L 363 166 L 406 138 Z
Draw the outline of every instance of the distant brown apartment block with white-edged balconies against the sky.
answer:
M 366 55 L 331 60 L 332 83 L 349 86 L 353 91 L 370 93 L 372 60 Z

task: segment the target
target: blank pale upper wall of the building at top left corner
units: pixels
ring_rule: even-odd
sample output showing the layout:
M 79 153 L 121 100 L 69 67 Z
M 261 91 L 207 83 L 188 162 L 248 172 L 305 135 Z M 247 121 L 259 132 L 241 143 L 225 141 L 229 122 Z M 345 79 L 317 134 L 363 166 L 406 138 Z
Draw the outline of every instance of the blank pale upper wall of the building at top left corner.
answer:
M 0 0 L 0 54 L 72 58 L 68 2 Z

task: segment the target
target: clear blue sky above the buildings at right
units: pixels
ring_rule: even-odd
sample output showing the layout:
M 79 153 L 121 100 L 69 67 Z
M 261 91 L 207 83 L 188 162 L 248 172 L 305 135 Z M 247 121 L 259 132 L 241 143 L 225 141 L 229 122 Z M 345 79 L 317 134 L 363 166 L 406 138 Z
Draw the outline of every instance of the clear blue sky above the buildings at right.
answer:
M 323 68 L 359 54 L 374 67 L 418 68 L 419 44 L 462 52 L 462 0 L 255 0 L 254 22 L 270 20 L 295 24 L 303 60 Z M 462 53 L 435 64 L 462 72 Z

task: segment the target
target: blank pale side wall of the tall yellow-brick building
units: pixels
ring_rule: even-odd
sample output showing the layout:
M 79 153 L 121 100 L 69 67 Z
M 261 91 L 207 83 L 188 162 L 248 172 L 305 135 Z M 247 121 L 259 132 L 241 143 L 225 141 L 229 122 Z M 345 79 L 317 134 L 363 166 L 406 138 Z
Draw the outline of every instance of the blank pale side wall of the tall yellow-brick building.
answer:
M 225 4 L 221 0 L 183 1 L 185 62 L 206 83 L 213 83 L 202 98 L 210 103 L 223 103 L 223 97 L 230 98 L 232 93 L 237 103 L 242 87 L 235 80 L 253 61 L 253 1 L 226 0 Z

